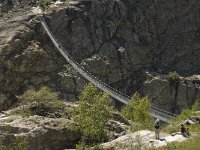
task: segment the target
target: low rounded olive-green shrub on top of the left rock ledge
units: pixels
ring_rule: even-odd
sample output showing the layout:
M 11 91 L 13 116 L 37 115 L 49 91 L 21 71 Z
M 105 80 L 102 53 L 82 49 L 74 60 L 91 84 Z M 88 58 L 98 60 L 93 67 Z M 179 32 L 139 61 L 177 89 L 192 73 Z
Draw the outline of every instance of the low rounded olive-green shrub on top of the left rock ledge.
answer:
M 22 96 L 21 103 L 24 107 L 17 113 L 20 113 L 22 116 L 45 116 L 48 112 L 53 113 L 63 108 L 63 102 L 59 100 L 58 93 L 53 92 L 47 87 L 27 91 Z

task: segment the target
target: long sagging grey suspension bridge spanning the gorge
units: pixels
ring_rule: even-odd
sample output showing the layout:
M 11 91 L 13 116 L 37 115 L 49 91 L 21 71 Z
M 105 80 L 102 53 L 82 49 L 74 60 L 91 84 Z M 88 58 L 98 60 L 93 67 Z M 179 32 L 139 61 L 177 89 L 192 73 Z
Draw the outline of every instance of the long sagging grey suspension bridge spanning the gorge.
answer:
M 65 50 L 61 43 L 56 39 L 54 34 L 51 32 L 50 28 L 48 27 L 47 23 L 45 22 L 44 18 L 41 18 L 41 24 L 44 30 L 46 31 L 47 35 L 53 42 L 54 46 L 57 48 L 57 50 L 61 53 L 61 55 L 67 60 L 67 62 L 79 73 L 81 74 L 85 79 L 87 79 L 89 82 L 93 83 L 96 87 L 98 87 L 100 90 L 108 93 L 112 98 L 120 101 L 123 104 L 127 104 L 128 101 L 130 100 L 130 97 L 112 87 L 107 85 L 106 83 L 102 82 L 99 80 L 97 77 L 92 75 L 89 71 L 84 69 L 80 64 L 78 64 Z M 169 123 L 169 121 L 173 118 L 175 118 L 177 115 L 159 109 L 157 107 L 151 107 L 150 108 L 151 115 L 154 118 L 158 118 L 163 122 Z

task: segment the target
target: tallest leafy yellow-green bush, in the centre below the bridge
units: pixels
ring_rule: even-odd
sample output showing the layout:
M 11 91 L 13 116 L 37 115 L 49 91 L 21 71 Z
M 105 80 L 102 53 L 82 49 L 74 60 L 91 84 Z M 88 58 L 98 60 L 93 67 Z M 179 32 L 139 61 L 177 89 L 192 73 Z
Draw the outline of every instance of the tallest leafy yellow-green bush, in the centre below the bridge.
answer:
M 105 140 L 105 127 L 111 118 L 112 107 L 108 94 L 99 92 L 95 86 L 88 84 L 79 97 L 73 118 L 77 129 L 82 133 L 82 140 L 88 144 Z

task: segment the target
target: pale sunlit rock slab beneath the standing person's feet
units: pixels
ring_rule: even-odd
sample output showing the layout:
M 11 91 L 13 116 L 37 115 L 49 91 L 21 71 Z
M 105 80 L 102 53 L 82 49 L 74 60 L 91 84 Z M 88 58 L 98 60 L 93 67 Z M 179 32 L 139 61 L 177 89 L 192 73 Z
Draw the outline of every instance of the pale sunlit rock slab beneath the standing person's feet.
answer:
M 175 136 L 162 134 L 160 140 L 155 140 L 154 132 L 141 130 L 119 137 L 116 140 L 102 144 L 105 150 L 123 150 L 123 149 L 149 149 L 160 148 L 171 142 L 183 142 L 187 140 L 180 134 Z

